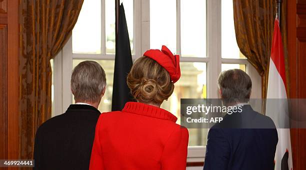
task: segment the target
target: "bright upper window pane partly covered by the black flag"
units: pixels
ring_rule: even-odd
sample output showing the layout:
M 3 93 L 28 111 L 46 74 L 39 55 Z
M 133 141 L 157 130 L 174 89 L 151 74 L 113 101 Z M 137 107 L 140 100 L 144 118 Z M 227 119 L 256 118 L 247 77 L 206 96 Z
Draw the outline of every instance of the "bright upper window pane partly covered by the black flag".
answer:
M 133 0 L 121 0 L 124 6 L 130 49 L 133 53 Z M 106 53 L 115 53 L 115 2 L 105 0 Z

